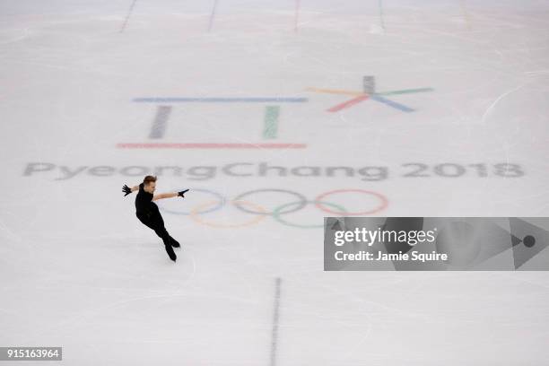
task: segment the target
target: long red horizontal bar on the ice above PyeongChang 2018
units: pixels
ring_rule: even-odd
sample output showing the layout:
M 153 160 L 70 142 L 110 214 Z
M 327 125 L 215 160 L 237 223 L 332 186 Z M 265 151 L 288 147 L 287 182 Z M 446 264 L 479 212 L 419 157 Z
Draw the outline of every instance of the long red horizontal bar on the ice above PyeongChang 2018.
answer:
M 304 149 L 307 144 L 119 143 L 120 149 Z

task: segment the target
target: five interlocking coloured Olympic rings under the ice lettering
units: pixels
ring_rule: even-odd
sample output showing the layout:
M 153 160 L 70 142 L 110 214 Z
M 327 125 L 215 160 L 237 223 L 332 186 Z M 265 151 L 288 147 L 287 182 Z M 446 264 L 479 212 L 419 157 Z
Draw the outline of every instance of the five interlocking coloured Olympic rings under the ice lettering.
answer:
M 388 199 L 386 196 L 381 195 L 380 193 L 373 192 L 365 189 L 335 189 L 328 192 L 324 192 L 316 196 L 314 199 L 309 200 L 306 196 L 302 195 L 299 192 L 295 192 L 288 189 L 280 188 L 263 188 L 263 189 L 254 189 L 244 193 L 241 193 L 238 196 L 234 196 L 231 199 L 227 199 L 222 194 L 215 192 L 210 189 L 205 188 L 191 188 L 191 194 L 195 192 L 205 193 L 209 196 L 212 196 L 212 199 L 205 201 L 199 205 L 192 207 L 188 211 L 175 211 L 173 209 L 167 209 L 165 207 L 160 207 L 162 211 L 173 214 L 183 214 L 188 215 L 193 221 L 200 223 L 205 226 L 214 227 L 214 228 L 239 228 L 245 226 L 251 226 L 257 222 L 261 222 L 266 219 L 266 217 L 271 216 L 277 222 L 283 223 L 287 226 L 292 226 L 296 228 L 322 228 L 324 223 L 321 224 L 302 224 L 289 222 L 283 218 L 283 215 L 288 213 L 295 213 L 308 205 L 314 205 L 318 210 L 329 213 L 330 215 L 335 216 L 363 216 L 379 213 L 385 210 L 388 206 Z M 292 197 L 289 202 L 283 203 L 274 207 L 272 210 L 267 210 L 264 206 L 258 205 L 252 201 L 250 198 L 254 195 L 259 194 L 280 194 L 283 196 Z M 328 202 L 327 199 L 334 197 L 336 195 L 349 195 L 353 194 L 351 198 L 353 200 L 358 196 L 362 195 L 373 200 L 373 207 L 367 207 L 360 211 L 350 212 L 344 208 L 343 205 L 338 205 L 332 202 Z M 187 197 L 186 197 L 187 198 Z M 348 197 L 349 198 L 349 197 Z M 206 216 L 208 213 L 213 213 L 215 211 L 221 210 L 227 203 L 231 204 L 234 208 L 243 213 L 251 214 L 252 217 L 246 222 L 239 223 L 227 223 L 227 222 L 212 222 L 207 221 L 203 216 Z

